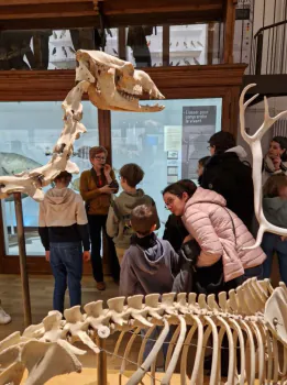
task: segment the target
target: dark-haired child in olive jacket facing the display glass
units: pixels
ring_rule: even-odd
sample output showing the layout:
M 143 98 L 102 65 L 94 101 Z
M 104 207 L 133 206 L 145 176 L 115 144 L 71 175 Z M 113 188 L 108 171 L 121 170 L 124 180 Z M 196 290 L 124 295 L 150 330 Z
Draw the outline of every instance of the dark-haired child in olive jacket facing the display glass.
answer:
M 108 213 L 107 232 L 113 239 L 119 263 L 129 249 L 134 230 L 130 224 L 132 210 L 140 205 L 153 206 L 154 200 L 145 195 L 141 188 L 136 188 L 144 177 L 143 169 L 134 163 L 126 164 L 120 169 L 121 186 L 123 191 L 114 198 Z M 156 210 L 155 210 L 156 211 Z M 159 229 L 159 220 L 156 220 Z

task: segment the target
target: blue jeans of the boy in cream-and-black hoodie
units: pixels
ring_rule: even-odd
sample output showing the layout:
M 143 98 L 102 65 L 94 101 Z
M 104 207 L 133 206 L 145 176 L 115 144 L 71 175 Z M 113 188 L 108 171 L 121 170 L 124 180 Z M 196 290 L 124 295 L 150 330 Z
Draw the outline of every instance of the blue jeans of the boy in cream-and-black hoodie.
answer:
M 64 312 L 65 293 L 69 289 L 70 307 L 80 305 L 82 250 L 80 242 L 49 244 L 49 263 L 55 278 L 53 309 Z

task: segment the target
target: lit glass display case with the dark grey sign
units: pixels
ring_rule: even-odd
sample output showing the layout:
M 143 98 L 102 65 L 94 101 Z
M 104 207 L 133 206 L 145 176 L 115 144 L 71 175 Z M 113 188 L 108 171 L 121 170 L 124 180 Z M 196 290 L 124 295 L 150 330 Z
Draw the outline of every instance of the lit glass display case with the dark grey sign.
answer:
M 169 215 L 162 190 L 181 178 L 197 182 L 198 160 L 209 155 L 208 140 L 221 130 L 222 99 L 166 100 L 158 113 L 111 112 L 112 160 L 115 174 L 126 163 L 145 175 L 139 186 L 156 202 L 158 235 Z

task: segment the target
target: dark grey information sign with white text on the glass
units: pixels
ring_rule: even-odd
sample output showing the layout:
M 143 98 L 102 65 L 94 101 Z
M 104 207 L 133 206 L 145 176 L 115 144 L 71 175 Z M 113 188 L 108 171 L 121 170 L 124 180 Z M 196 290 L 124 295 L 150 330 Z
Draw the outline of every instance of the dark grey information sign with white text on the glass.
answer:
M 208 141 L 216 124 L 216 106 L 183 107 L 181 178 L 198 178 L 198 161 L 209 155 Z

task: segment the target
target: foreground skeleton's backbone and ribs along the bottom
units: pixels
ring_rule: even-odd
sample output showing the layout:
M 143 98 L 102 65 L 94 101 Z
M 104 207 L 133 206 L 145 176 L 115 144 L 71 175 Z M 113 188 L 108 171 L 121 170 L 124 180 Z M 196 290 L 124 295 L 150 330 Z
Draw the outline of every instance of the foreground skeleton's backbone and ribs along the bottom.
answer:
M 220 351 L 222 338 L 229 340 L 229 372 L 228 384 L 254 384 L 282 383 L 287 380 L 287 289 L 285 285 L 273 289 L 268 280 L 257 282 L 249 279 L 236 290 L 219 295 L 219 302 L 214 295 L 199 295 L 196 301 L 194 293 L 187 295 L 180 293 L 152 294 L 145 298 L 141 295 L 129 297 L 124 305 L 124 297 L 108 300 L 108 309 L 102 308 L 102 301 L 91 302 L 85 306 L 86 314 L 80 312 L 80 307 L 65 310 L 66 321 L 62 315 L 51 311 L 41 324 L 31 326 L 22 337 L 19 332 L 11 334 L 0 343 L 0 364 L 3 372 L 0 374 L 0 384 L 13 381 L 20 383 L 19 372 L 26 366 L 30 375 L 26 384 L 40 384 L 38 378 L 49 378 L 60 373 L 80 371 L 80 365 L 75 354 L 84 351 L 75 349 L 71 343 L 81 340 L 85 344 L 98 352 L 93 342 L 96 337 L 108 338 L 110 333 L 121 331 L 114 354 L 119 355 L 119 349 L 124 333 L 132 332 L 130 342 L 135 340 L 141 329 L 147 329 L 140 349 L 137 370 L 128 384 L 139 384 L 152 365 L 152 374 L 155 371 L 157 353 L 163 346 L 172 324 L 176 326 L 172 338 L 167 356 L 165 375 L 162 384 L 169 384 L 175 366 L 180 359 L 180 383 L 187 384 L 187 355 L 195 333 L 197 334 L 197 349 L 190 384 L 203 383 L 203 356 L 206 346 L 212 336 L 212 366 L 210 384 L 219 384 Z M 143 302 L 144 300 L 144 302 Z M 218 305 L 219 304 L 219 305 Z M 161 326 L 162 332 L 153 350 L 143 362 L 143 351 L 146 340 L 155 326 Z M 203 329 L 206 328 L 206 329 Z M 85 337 L 84 337 L 85 334 Z M 240 346 L 240 373 L 236 370 L 236 346 Z M 34 343 L 31 348 L 31 343 Z M 283 367 L 279 365 L 278 344 L 284 349 Z M 27 364 L 26 350 L 31 348 L 33 359 Z M 125 370 L 125 360 L 132 343 L 128 343 L 120 370 Z M 48 364 L 51 350 L 62 349 L 64 360 Z M 62 358 L 62 356 L 60 356 Z M 44 363 L 38 369 L 36 363 L 42 359 Z M 66 364 L 66 366 L 65 366 Z M 14 369 L 18 370 L 15 375 Z M 58 372 L 57 372 L 58 371 Z M 42 382 L 43 383 L 43 382 Z M 41 384 L 42 384 L 41 383 Z

